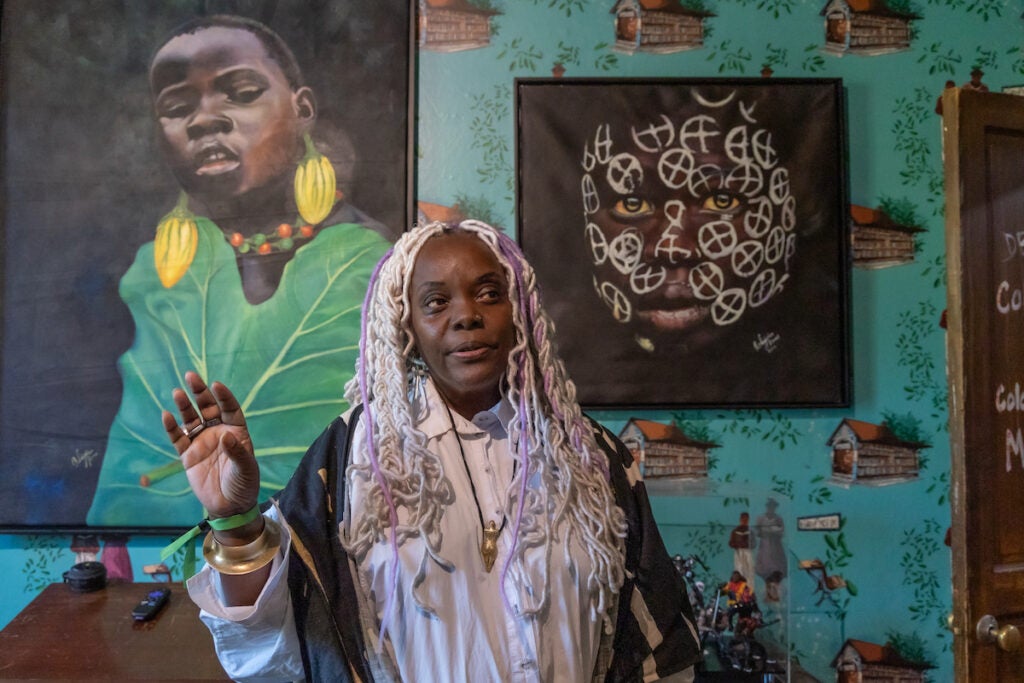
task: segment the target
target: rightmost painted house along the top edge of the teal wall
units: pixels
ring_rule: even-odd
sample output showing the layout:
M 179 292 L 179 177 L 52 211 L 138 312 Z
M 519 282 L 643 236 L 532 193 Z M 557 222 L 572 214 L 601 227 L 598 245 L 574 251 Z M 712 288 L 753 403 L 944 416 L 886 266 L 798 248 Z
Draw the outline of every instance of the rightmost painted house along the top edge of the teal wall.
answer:
M 885 0 L 828 0 L 825 50 L 838 54 L 885 54 L 910 47 L 910 22 L 916 14 L 890 9 Z

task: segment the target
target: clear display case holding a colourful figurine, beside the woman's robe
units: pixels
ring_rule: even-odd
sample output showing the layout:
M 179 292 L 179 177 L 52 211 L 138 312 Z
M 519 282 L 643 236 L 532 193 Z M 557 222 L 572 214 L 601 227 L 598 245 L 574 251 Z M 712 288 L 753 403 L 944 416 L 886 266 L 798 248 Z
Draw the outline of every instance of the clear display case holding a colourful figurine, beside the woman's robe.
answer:
M 645 483 L 697 616 L 705 663 L 696 680 L 820 680 L 801 667 L 794 631 L 810 629 L 814 636 L 802 635 L 801 642 L 821 641 L 817 655 L 831 656 L 825 653 L 842 643 L 826 615 L 837 606 L 837 587 L 829 588 L 837 578 L 824 563 L 792 552 L 798 520 L 790 500 L 707 479 L 648 475 Z

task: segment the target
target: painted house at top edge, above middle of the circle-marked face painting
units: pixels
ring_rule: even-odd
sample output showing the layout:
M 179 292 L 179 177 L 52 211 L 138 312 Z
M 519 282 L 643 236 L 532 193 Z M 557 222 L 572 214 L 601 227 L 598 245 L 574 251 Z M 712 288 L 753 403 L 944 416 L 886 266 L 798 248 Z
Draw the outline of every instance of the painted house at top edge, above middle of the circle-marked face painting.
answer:
M 712 12 L 690 9 L 680 0 L 618 0 L 615 44 L 618 52 L 682 52 L 703 47 L 705 19 Z

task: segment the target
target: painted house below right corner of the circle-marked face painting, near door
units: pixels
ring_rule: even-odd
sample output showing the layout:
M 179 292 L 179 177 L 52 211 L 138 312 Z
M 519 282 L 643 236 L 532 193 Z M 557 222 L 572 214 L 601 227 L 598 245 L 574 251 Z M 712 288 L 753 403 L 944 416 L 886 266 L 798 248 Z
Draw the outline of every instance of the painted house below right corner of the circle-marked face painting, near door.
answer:
M 881 486 L 916 479 L 922 449 L 927 443 L 905 441 L 886 425 L 843 420 L 828 439 L 831 480 Z

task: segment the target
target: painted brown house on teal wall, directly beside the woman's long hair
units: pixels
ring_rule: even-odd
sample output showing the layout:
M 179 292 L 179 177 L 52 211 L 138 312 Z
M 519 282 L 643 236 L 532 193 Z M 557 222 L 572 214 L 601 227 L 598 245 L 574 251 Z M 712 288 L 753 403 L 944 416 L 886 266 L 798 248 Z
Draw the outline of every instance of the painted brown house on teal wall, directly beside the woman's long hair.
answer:
M 708 452 L 718 443 L 692 439 L 676 426 L 652 420 L 631 418 L 618 438 L 633 454 L 640 471 L 648 479 L 708 477 Z

